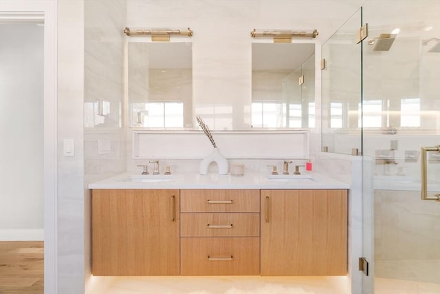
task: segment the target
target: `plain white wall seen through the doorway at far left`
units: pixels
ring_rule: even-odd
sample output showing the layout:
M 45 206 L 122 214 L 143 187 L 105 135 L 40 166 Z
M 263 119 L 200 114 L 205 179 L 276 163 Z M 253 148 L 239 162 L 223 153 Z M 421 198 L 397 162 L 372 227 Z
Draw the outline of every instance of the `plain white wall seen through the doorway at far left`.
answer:
M 0 240 L 43 240 L 43 30 L 0 24 Z

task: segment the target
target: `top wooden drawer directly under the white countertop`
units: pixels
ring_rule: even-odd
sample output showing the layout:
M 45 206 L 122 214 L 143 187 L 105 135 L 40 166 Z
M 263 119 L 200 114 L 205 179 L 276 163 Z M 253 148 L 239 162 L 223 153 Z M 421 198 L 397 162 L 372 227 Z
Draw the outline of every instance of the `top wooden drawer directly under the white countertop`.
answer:
M 260 191 L 188 189 L 180 191 L 181 212 L 259 212 Z

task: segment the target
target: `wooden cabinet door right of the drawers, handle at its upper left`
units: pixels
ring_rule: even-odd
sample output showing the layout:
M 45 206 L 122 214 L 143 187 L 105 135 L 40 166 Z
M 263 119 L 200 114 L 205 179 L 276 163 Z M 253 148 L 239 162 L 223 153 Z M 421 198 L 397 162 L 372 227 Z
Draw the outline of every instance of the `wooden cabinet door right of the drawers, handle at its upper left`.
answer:
M 261 275 L 347 275 L 347 190 L 261 190 Z

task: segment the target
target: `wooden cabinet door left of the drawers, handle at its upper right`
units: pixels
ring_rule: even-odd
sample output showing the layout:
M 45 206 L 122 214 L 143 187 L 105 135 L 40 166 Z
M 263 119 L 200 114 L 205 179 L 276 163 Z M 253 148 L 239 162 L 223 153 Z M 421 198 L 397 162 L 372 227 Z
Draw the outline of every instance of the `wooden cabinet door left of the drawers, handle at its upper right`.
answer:
M 179 190 L 92 191 L 94 275 L 179 275 Z

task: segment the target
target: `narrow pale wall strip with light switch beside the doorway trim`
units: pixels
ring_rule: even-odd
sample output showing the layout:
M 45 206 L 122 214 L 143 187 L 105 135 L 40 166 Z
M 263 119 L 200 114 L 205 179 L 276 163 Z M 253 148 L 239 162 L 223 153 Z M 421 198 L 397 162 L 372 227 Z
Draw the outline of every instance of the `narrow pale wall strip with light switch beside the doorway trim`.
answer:
M 84 195 L 84 0 L 58 0 L 58 292 L 83 293 Z M 74 156 L 63 156 L 73 139 Z

